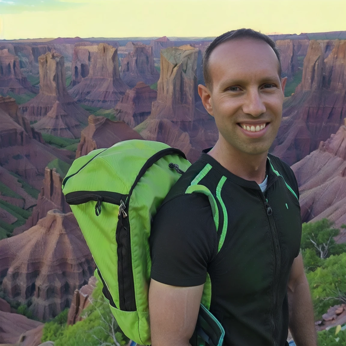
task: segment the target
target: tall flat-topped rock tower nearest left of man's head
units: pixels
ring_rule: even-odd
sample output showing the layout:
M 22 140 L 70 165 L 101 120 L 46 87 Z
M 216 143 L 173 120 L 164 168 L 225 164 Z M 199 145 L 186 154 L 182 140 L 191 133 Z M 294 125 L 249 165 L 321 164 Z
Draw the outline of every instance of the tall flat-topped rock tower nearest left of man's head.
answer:
M 197 109 L 198 52 L 191 46 L 161 51 L 157 100 L 151 115 L 136 127 L 143 138 L 177 147 L 191 161 L 213 146 L 218 136 L 214 119 L 204 108 Z

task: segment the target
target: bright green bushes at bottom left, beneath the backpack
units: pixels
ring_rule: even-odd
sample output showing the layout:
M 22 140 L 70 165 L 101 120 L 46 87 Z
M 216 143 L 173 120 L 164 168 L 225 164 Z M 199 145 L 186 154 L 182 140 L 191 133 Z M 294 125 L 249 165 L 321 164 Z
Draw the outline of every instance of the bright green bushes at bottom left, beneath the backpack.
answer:
M 98 281 L 92 293 L 93 302 L 85 310 L 82 321 L 67 326 L 67 312 L 63 311 L 43 328 L 41 342 L 54 341 L 55 346 L 126 345 L 126 338 L 109 309 L 108 300 L 102 294 Z

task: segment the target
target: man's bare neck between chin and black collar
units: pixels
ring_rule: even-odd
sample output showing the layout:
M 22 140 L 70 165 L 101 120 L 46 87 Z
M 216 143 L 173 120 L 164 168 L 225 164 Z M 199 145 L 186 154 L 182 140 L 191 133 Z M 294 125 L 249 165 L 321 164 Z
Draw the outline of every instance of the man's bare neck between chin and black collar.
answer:
M 221 137 L 221 136 L 220 136 Z M 265 169 L 268 152 L 250 155 L 229 145 L 225 140 L 219 140 L 208 152 L 231 173 L 261 184 L 265 179 Z

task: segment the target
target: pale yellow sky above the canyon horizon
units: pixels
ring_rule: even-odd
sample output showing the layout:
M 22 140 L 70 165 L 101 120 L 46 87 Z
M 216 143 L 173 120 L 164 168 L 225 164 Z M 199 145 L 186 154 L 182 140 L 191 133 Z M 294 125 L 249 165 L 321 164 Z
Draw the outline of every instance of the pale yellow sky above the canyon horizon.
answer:
M 0 0 L 0 38 L 346 30 L 345 0 Z

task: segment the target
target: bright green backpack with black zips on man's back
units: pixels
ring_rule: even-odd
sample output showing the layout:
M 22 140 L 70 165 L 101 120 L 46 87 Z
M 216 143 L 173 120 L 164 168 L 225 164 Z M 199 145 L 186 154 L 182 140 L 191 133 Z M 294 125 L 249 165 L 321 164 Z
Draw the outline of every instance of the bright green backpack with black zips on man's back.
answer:
M 102 281 L 110 310 L 124 334 L 140 345 L 151 344 L 148 290 L 152 220 L 190 165 L 179 149 L 133 139 L 79 157 L 62 183 L 66 202 L 94 258 L 95 273 Z M 210 302 L 208 284 L 204 285 L 203 299 Z M 222 326 L 202 304 L 195 334 L 198 345 L 220 346 L 224 337 Z

